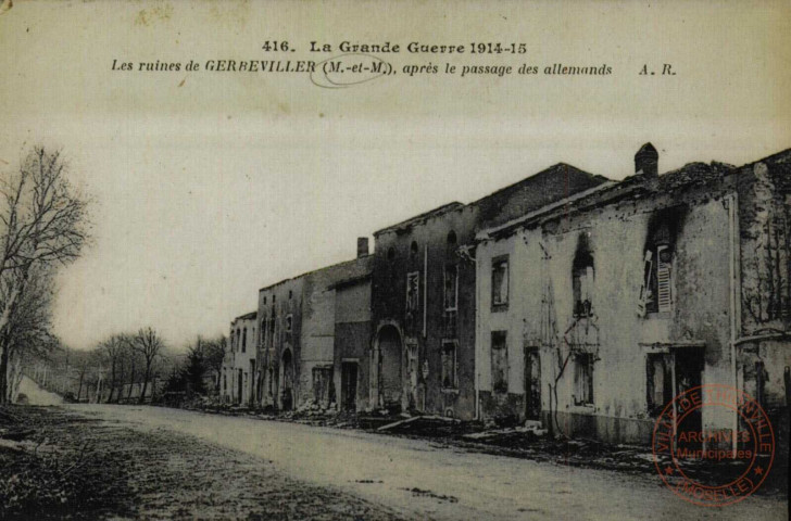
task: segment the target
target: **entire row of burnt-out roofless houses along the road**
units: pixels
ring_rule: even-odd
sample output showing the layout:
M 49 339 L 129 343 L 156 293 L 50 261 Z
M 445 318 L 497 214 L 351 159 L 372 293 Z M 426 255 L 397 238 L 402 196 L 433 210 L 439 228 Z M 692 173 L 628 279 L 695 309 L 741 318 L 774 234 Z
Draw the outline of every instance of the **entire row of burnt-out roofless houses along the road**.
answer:
M 620 181 L 558 164 L 357 242 L 259 290 L 230 325 L 229 401 L 536 420 L 650 441 L 674 396 L 723 383 L 786 407 L 791 150 Z M 704 409 L 706 429 L 737 415 Z

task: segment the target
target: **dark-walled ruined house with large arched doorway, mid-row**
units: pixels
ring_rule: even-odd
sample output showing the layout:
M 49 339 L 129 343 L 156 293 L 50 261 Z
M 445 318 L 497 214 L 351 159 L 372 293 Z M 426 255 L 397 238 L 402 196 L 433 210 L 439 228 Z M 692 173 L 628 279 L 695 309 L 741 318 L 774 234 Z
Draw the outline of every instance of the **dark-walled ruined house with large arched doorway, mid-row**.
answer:
M 374 233 L 369 406 L 476 416 L 476 232 L 604 182 L 558 164 Z

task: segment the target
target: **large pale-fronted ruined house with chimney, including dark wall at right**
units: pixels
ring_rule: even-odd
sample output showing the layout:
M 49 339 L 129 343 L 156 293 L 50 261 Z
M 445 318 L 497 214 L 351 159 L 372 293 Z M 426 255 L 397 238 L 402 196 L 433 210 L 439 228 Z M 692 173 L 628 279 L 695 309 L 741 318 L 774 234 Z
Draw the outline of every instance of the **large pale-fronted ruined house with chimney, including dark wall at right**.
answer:
M 646 143 L 635 165 L 478 232 L 480 417 L 650 443 L 676 395 L 720 383 L 786 425 L 791 151 L 660 175 Z M 694 421 L 738 428 L 721 408 Z

